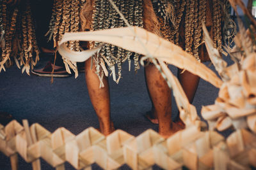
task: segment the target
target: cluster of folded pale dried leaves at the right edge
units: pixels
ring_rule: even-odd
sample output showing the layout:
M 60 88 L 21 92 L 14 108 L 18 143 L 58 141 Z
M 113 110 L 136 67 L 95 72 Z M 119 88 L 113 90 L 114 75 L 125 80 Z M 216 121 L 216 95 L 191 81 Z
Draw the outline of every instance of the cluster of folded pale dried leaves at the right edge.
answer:
M 239 32 L 234 38 L 236 46 L 228 52 L 235 61 L 232 66 L 227 67 L 220 55 L 212 53 L 218 52 L 216 49 L 209 49 L 216 69 L 228 79 L 221 86 L 215 104 L 202 108 L 202 117 L 208 121 L 210 129 L 249 128 L 256 133 L 255 31 L 252 34 L 249 29 L 246 31 L 239 18 L 238 25 Z M 253 27 L 250 30 L 253 32 Z

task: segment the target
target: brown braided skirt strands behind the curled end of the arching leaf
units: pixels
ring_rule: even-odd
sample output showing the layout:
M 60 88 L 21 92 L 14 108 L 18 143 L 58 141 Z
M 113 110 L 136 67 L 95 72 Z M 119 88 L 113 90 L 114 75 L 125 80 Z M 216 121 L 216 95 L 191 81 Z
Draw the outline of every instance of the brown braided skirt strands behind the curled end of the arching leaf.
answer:
M 53 34 L 54 47 L 58 45 L 58 41 L 61 41 L 61 38 L 65 32 L 78 32 L 80 29 L 80 18 L 79 10 L 81 6 L 85 3 L 84 0 L 56 0 L 54 1 L 54 7 L 52 8 L 52 17 L 49 25 L 49 31 L 47 34 L 50 34 L 49 39 L 51 39 L 51 34 Z M 52 23 L 54 22 L 54 23 Z M 93 23 L 96 25 L 96 22 Z M 52 32 L 53 31 L 53 32 Z M 51 33 L 52 32 L 52 33 Z M 74 51 L 80 51 L 79 41 L 68 41 L 65 45 Z M 70 60 L 63 60 L 67 72 L 70 72 L 70 69 L 73 69 L 75 76 L 78 76 L 76 62 L 71 62 Z

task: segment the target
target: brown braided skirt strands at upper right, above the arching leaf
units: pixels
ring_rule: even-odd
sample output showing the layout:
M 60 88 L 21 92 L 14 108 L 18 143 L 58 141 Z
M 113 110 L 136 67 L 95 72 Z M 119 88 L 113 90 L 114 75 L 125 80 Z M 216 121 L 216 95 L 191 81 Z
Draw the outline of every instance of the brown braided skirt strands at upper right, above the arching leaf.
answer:
M 154 3 L 154 10 L 157 13 L 159 23 L 161 25 L 161 36 L 172 41 L 175 44 L 180 44 L 179 34 L 184 27 L 184 50 L 200 60 L 199 47 L 204 42 L 202 35 L 202 23 L 206 22 L 206 0 L 160 0 Z M 227 2 L 227 1 L 226 1 Z M 218 50 L 221 50 L 221 4 L 227 6 L 220 0 L 212 0 L 212 16 L 211 26 L 214 45 Z M 221 3 L 221 4 L 220 4 Z M 209 3 L 208 3 L 209 5 Z M 175 9 L 174 12 L 172 9 Z M 210 8 L 209 8 L 210 9 Z M 225 13 L 225 11 L 223 12 Z M 171 14 L 171 15 L 170 15 Z M 230 22 L 230 20 L 228 20 Z M 227 32 L 227 30 L 225 30 Z M 234 36 L 234 34 L 232 34 Z M 227 36 L 225 36 L 227 38 Z M 228 38 L 231 38 L 228 36 Z

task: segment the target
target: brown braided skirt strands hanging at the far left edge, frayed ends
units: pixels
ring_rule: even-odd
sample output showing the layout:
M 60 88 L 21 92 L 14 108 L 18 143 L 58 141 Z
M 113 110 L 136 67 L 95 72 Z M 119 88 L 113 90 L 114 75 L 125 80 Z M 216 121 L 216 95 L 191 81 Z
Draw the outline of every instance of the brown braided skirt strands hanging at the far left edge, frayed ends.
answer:
M 39 50 L 36 45 L 35 27 L 28 0 L 16 6 L 8 6 L 7 1 L 1 1 L 1 57 L 0 71 L 12 64 L 12 57 L 17 66 L 23 65 L 22 73 L 29 74 L 39 60 Z M 3 26 L 3 27 L 2 27 Z M 35 60 L 33 60 L 35 55 Z M 20 62 L 19 62 L 20 60 Z

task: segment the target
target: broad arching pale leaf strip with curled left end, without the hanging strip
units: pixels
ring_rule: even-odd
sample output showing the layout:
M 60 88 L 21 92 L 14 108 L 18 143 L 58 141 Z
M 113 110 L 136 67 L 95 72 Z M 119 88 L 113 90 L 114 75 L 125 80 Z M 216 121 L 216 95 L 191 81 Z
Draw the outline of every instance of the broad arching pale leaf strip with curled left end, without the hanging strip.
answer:
M 133 38 L 133 31 L 136 32 L 138 38 Z M 220 87 L 220 85 L 222 84 L 222 81 L 216 76 L 216 74 L 214 74 L 210 69 L 204 66 L 204 64 L 196 62 L 194 57 L 188 55 L 188 53 L 184 52 L 179 46 L 173 45 L 172 43 L 170 43 L 170 41 L 159 38 L 155 34 L 145 31 L 140 27 L 108 29 L 92 32 L 77 32 L 76 34 L 68 32 L 65 33 L 63 39 L 64 40 L 60 41 L 59 52 L 61 53 L 61 55 L 63 55 L 63 57 L 70 60 L 72 60 L 72 58 L 74 58 L 74 61 L 77 59 L 77 52 L 72 52 L 74 56 L 70 56 L 71 52 L 69 52 L 68 49 L 63 46 L 63 43 L 65 41 L 70 41 L 71 39 L 81 41 L 101 41 L 105 43 L 111 43 L 113 45 L 120 46 L 127 50 L 131 50 L 133 52 L 137 52 L 147 56 L 147 50 L 149 50 L 150 54 L 152 56 L 156 56 L 158 60 L 164 60 L 165 62 L 180 67 L 181 69 L 187 69 L 191 73 L 201 76 L 216 87 Z M 141 44 L 141 41 L 139 41 L 138 39 L 141 39 L 143 44 Z M 147 50 L 145 49 L 145 47 L 147 47 Z M 82 53 L 84 55 L 86 51 L 77 54 L 81 56 Z M 88 59 L 88 57 L 90 57 L 89 55 L 84 55 L 84 57 L 79 60 L 86 60 Z

